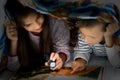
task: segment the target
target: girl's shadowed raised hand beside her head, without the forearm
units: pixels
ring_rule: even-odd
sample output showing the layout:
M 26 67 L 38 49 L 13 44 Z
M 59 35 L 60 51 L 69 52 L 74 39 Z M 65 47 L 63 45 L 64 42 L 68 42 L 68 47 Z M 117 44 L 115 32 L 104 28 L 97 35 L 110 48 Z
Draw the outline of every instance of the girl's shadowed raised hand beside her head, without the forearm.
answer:
M 18 37 L 15 22 L 9 21 L 5 24 L 5 26 L 8 39 L 10 39 L 11 41 L 17 41 Z

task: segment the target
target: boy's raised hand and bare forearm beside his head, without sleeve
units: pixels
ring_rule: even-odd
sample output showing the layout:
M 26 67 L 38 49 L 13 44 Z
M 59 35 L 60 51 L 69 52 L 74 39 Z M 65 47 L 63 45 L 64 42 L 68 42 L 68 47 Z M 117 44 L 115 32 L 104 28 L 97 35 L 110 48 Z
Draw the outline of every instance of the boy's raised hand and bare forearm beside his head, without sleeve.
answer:
M 106 28 L 106 32 L 104 34 L 105 43 L 107 47 L 113 46 L 113 35 L 120 29 L 117 23 L 111 23 Z

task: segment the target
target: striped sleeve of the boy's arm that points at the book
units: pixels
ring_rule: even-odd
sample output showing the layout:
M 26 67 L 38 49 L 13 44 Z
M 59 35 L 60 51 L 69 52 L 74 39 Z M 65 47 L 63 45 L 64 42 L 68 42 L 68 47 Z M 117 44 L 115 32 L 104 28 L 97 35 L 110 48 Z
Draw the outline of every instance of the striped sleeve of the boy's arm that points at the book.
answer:
M 79 35 L 78 42 L 74 48 L 74 60 L 77 58 L 82 58 L 88 62 L 90 53 L 92 53 L 92 49 L 82 40 L 81 36 Z

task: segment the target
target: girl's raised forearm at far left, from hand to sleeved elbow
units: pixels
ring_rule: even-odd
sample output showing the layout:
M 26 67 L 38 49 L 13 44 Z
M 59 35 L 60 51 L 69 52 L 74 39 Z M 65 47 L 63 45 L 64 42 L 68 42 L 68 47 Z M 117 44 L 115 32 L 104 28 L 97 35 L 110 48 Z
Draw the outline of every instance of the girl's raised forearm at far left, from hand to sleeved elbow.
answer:
M 8 56 L 8 63 L 7 63 L 7 68 L 11 71 L 16 71 L 20 64 L 17 56 L 17 30 L 16 30 L 16 25 L 15 23 L 11 20 L 8 21 L 6 24 L 6 36 L 9 39 L 9 49 L 10 49 L 10 54 Z

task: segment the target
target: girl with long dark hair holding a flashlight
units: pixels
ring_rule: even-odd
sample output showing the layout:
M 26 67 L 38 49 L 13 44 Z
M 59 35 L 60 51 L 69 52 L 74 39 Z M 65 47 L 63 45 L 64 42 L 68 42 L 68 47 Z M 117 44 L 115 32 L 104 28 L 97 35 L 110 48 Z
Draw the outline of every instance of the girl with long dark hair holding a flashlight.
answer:
M 69 30 L 63 21 L 29 7 L 17 9 L 14 19 L 17 39 L 11 39 L 11 44 L 16 42 L 13 48 L 17 48 L 22 71 L 44 66 L 49 57 L 56 63 L 52 70 L 62 68 L 69 60 Z

